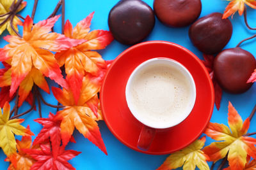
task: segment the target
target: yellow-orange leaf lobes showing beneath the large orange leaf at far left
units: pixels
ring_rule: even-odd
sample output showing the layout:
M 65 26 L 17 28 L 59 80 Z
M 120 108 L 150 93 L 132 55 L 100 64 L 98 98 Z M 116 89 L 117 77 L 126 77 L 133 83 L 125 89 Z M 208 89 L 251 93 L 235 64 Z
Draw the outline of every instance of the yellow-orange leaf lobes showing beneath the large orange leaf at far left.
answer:
M 4 66 L 5 68 L 3 71 L 0 71 L 0 87 L 8 87 L 12 84 L 11 66 L 8 64 L 4 64 Z M 28 99 L 27 101 L 31 101 L 31 97 L 33 99 L 33 95 L 29 96 L 29 94 L 31 93 L 34 83 L 48 94 L 50 93 L 49 86 L 44 78 L 44 75 L 38 69 L 32 67 L 31 71 L 29 71 L 28 75 L 24 78 L 24 80 L 21 81 L 19 85 L 19 107 L 25 100 L 28 99 L 28 97 L 30 97 L 30 100 Z M 12 99 L 13 97 L 9 98 Z M 29 104 L 32 103 L 30 102 Z

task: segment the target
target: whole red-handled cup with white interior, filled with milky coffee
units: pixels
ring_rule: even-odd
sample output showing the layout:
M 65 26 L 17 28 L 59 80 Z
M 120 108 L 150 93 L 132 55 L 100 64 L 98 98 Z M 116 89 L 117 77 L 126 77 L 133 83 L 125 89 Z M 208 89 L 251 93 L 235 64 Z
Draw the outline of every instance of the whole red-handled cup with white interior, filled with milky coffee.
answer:
M 169 78 L 165 75 L 164 78 L 157 79 L 155 76 L 156 80 L 153 79 L 153 81 L 150 78 L 151 73 L 147 73 L 150 69 L 154 72 L 158 69 L 159 71 L 163 70 L 163 68 L 170 72 Z M 145 74 L 150 81 L 143 76 Z M 173 79 L 172 75 L 176 78 Z M 153 73 L 152 76 L 154 76 Z M 174 80 L 179 83 L 175 83 Z M 170 85 L 161 83 L 162 81 L 168 82 Z M 175 85 L 172 85 L 172 81 Z M 142 86 L 138 82 L 142 83 Z M 136 83 L 139 85 L 138 88 Z M 177 84 L 180 85 L 180 88 L 186 87 L 186 91 L 180 91 L 179 88 L 177 91 Z M 183 98 L 179 95 L 183 95 Z M 132 115 L 144 125 L 138 138 L 137 147 L 140 150 L 148 150 L 156 131 L 172 128 L 188 117 L 196 101 L 196 86 L 193 76 L 182 64 L 168 58 L 154 58 L 146 60 L 134 69 L 127 81 L 125 97 Z M 157 113 L 157 108 L 163 114 Z

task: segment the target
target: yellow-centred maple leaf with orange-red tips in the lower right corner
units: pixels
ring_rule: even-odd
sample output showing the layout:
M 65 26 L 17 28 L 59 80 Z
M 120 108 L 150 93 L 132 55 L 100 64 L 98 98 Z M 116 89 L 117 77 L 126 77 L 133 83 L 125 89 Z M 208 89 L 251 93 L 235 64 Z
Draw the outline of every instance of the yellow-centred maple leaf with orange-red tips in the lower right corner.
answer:
M 228 104 L 228 125 L 209 123 L 205 134 L 220 142 L 211 143 L 204 148 L 204 152 L 211 161 L 217 161 L 228 153 L 228 163 L 232 170 L 243 169 L 246 164 L 246 156 L 256 158 L 256 139 L 244 136 L 250 127 L 250 120 L 242 118 L 231 103 Z

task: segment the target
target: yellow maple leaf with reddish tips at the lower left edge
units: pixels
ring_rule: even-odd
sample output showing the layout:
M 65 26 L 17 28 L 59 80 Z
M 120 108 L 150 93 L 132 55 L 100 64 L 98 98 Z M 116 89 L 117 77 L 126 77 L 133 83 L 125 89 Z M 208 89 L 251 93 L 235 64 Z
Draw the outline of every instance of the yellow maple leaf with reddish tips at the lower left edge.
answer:
M 9 157 L 12 162 L 15 162 L 16 152 L 16 141 L 14 134 L 21 136 L 31 136 L 34 135 L 29 129 L 26 129 L 20 125 L 24 119 L 17 118 L 9 120 L 10 117 L 10 104 L 5 103 L 2 110 L 0 110 L 0 147 L 7 157 Z

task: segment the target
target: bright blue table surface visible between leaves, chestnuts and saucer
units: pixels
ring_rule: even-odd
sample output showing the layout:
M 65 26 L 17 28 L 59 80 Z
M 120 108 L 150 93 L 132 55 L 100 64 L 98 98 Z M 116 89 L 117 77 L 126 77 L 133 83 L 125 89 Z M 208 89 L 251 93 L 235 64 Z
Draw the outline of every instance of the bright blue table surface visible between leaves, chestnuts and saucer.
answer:
M 153 1 L 154 0 L 145 0 L 145 2 L 148 3 L 150 6 L 153 5 Z M 66 0 L 65 2 L 66 20 L 69 19 L 73 25 L 76 25 L 77 22 L 83 20 L 83 18 L 85 18 L 92 11 L 95 11 L 95 15 L 93 17 L 91 26 L 92 30 L 108 30 L 108 13 L 111 10 L 111 8 L 118 2 L 118 0 Z M 27 0 L 27 3 L 28 4 L 26 8 L 22 10 L 22 12 L 20 12 L 20 14 L 23 17 L 26 17 L 26 15 L 31 15 L 34 1 Z M 58 0 L 39 0 L 38 8 L 36 10 L 35 15 L 35 22 L 47 18 L 52 13 L 57 3 Z M 212 12 L 223 13 L 227 4 L 228 1 L 223 0 L 202 0 L 202 13 L 200 17 L 208 15 Z M 59 10 L 58 13 L 61 13 L 61 10 Z M 248 22 L 252 27 L 256 27 L 256 10 L 248 10 L 248 15 Z M 243 17 L 240 17 L 237 13 L 236 15 L 234 15 L 234 18 L 232 19 L 232 24 L 234 29 L 233 35 L 230 42 L 225 48 L 232 48 L 236 46 L 237 43 L 241 41 L 241 39 L 244 39 L 248 36 L 252 36 L 252 34 L 255 34 L 255 31 L 248 31 L 248 29 L 246 29 L 246 26 L 243 22 Z M 195 53 L 200 59 L 202 59 L 202 53 L 199 52 L 195 48 L 195 46 L 191 44 L 191 41 L 189 40 L 188 29 L 189 27 L 183 27 L 179 29 L 166 27 L 163 24 L 161 24 L 159 20 L 156 20 L 154 30 L 144 41 L 171 41 L 173 43 L 177 43 L 188 48 L 193 53 Z M 61 19 L 59 19 L 56 23 L 54 30 L 56 32 L 61 31 Z M 4 31 L 4 34 L 1 35 L 0 47 L 6 45 L 6 41 L 3 40 L 3 36 L 6 36 L 6 34 L 7 31 Z M 254 56 L 256 56 L 256 42 L 253 41 L 255 40 L 251 40 L 244 43 L 242 47 L 244 48 L 244 50 L 248 50 Z M 111 45 L 109 45 L 105 50 L 100 50 L 99 53 L 102 55 L 104 59 L 111 60 L 115 59 L 118 56 L 118 54 L 120 54 L 127 48 L 129 48 L 129 46 L 122 45 L 117 41 L 113 41 Z M 51 83 L 51 85 L 55 84 Z M 221 101 L 221 108 L 218 111 L 216 107 L 214 107 L 211 122 L 218 122 L 227 125 L 228 101 L 231 101 L 231 103 L 234 105 L 234 107 L 237 109 L 238 113 L 240 113 L 241 117 L 244 120 L 248 117 L 248 115 L 250 115 L 250 112 L 252 111 L 253 106 L 256 103 L 255 94 L 255 85 L 253 85 L 250 90 L 243 94 L 234 95 L 227 94 L 224 92 L 223 99 Z M 54 99 L 52 94 L 51 96 L 45 93 L 43 95 L 45 97 L 45 100 L 49 103 L 57 104 L 57 101 L 56 99 Z M 13 102 L 11 104 L 13 106 Z M 29 105 L 27 103 L 24 103 L 24 105 L 20 108 L 20 113 L 22 111 L 27 110 L 28 108 Z M 56 109 L 49 108 L 48 106 L 45 106 L 43 104 L 43 117 L 48 117 L 49 111 L 51 111 L 52 113 L 56 113 Z M 40 129 L 42 129 L 42 126 L 40 124 L 37 124 L 33 121 L 35 118 L 38 118 L 38 113 L 36 113 L 36 111 L 33 111 L 32 113 L 29 113 L 28 115 L 25 115 L 22 118 L 26 119 L 24 123 L 22 123 L 22 125 L 24 125 L 25 127 L 27 125 L 30 125 L 31 131 L 33 131 L 35 134 L 38 134 L 38 132 L 40 132 Z M 99 127 L 100 132 L 102 134 L 102 138 L 108 150 L 108 156 L 101 152 L 99 148 L 97 148 L 95 145 L 90 143 L 88 139 L 85 139 L 81 134 L 79 134 L 79 132 L 74 131 L 74 137 L 77 143 L 68 144 L 67 149 L 82 152 L 80 155 L 69 161 L 72 164 L 72 166 L 76 167 L 76 169 L 156 169 L 164 162 L 166 157 L 168 157 L 168 155 L 147 155 L 144 153 L 131 150 L 127 146 L 120 143 L 120 141 L 118 141 L 118 139 L 116 139 L 115 136 L 111 134 L 111 132 L 109 131 L 108 127 L 104 122 L 99 122 Z M 249 132 L 255 131 L 256 118 L 253 118 Z M 204 134 L 202 136 L 204 136 Z M 17 138 L 20 139 L 20 136 L 17 136 Z M 35 136 L 33 136 L 33 139 L 35 139 Z M 205 145 L 209 145 L 211 142 L 212 139 L 207 137 Z M 3 151 L 1 150 L 1 169 L 8 168 L 8 162 L 4 162 L 5 158 L 6 157 Z M 211 162 L 209 162 L 209 165 L 211 165 Z

